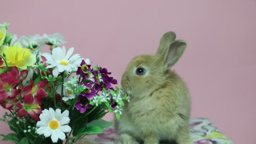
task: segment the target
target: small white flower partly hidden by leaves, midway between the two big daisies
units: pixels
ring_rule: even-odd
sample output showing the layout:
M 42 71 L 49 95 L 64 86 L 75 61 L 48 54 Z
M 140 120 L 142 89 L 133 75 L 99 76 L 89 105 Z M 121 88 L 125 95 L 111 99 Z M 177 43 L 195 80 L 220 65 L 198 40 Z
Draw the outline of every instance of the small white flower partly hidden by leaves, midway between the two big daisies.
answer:
M 64 83 L 68 83 L 68 79 L 67 78 L 64 78 Z M 61 94 L 61 85 L 58 86 L 57 93 Z M 63 88 L 63 95 L 64 95 L 62 97 L 63 101 L 67 101 L 69 99 L 74 99 L 75 98 L 75 93 L 74 93 L 72 87 L 64 87 Z

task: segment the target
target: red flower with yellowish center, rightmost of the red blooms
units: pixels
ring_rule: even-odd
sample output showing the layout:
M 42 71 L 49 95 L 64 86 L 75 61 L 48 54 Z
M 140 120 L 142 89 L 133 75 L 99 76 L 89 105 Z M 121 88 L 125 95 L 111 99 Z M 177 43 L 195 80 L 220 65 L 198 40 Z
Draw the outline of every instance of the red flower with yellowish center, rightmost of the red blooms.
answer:
M 47 96 L 47 93 L 45 92 L 44 88 L 47 85 L 46 80 L 42 80 L 37 85 L 34 86 L 34 81 L 30 79 L 30 84 L 25 86 L 23 88 L 23 91 L 21 92 L 22 96 L 32 94 L 32 96 L 35 98 L 44 98 Z

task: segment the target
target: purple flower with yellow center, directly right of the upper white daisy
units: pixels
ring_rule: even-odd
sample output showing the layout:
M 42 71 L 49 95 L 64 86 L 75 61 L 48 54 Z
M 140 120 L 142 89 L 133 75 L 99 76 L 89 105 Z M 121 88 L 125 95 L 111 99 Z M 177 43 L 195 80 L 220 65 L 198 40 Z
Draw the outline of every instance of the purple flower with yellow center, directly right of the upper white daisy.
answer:
M 92 71 L 90 64 L 91 64 L 90 60 L 88 60 L 88 59 L 82 60 L 82 62 L 80 64 L 81 67 L 78 67 L 78 69 L 77 69 L 77 75 L 81 75 L 84 79 L 88 79 L 89 72 Z

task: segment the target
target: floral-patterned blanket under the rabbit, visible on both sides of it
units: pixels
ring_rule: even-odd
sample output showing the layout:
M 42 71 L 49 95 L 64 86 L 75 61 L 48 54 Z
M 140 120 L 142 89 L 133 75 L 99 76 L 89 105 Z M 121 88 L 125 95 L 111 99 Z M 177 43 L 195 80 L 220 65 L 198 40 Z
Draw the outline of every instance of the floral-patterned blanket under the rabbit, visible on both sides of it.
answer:
M 194 144 L 233 144 L 207 118 L 193 118 L 189 127 Z M 110 127 L 101 134 L 85 136 L 78 144 L 116 144 L 117 136 L 117 131 Z

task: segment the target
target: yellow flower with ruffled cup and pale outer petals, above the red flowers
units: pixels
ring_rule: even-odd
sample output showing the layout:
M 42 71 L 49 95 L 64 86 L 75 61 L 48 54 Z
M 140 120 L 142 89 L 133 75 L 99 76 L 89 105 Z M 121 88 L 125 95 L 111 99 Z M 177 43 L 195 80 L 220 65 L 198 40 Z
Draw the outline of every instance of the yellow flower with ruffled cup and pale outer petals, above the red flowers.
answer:
M 35 66 L 35 54 L 31 53 L 27 48 L 22 48 L 21 43 L 17 42 L 10 47 L 2 45 L 0 47 L 0 55 L 3 55 L 3 53 L 5 53 L 8 66 L 16 66 L 21 69 L 27 69 L 27 66 Z

